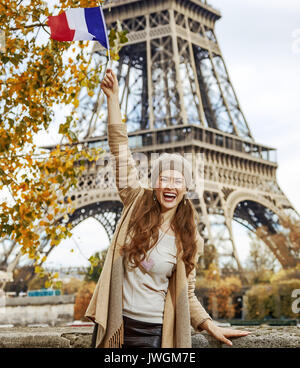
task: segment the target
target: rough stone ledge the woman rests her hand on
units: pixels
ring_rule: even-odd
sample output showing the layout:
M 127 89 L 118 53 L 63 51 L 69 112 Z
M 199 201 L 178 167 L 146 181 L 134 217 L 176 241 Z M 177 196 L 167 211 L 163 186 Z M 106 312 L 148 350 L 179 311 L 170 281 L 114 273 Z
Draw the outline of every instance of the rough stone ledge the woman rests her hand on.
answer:
M 300 348 L 299 327 L 238 327 L 253 333 L 221 344 L 206 331 L 195 334 L 193 348 Z M 89 348 L 93 327 L 1 328 L 2 348 Z

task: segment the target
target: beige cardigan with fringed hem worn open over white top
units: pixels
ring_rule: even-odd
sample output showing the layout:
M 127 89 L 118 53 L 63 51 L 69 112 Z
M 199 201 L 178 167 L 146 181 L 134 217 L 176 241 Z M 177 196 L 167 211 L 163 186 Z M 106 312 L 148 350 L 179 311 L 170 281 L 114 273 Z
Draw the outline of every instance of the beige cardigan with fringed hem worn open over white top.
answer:
M 116 160 L 116 186 L 123 203 L 121 218 L 109 246 L 104 266 L 85 316 L 98 324 L 96 347 L 122 347 L 124 326 L 122 317 L 123 257 L 119 247 L 126 239 L 134 206 L 152 188 L 144 188 L 138 180 L 135 162 L 128 147 L 125 123 L 108 124 L 108 143 Z M 199 256 L 203 253 L 203 239 L 197 231 Z M 195 268 L 186 277 L 182 260 L 182 246 L 178 236 L 177 266 L 169 280 L 165 299 L 162 348 L 191 348 L 191 328 L 200 332 L 200 324 L 211 319 L 194 294 Z

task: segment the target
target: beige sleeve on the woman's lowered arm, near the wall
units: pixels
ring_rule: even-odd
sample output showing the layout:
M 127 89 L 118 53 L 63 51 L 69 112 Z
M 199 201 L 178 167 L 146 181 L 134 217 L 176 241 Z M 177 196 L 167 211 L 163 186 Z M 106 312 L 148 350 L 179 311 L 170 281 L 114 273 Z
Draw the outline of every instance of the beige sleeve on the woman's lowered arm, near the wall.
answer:
M 203 253 L 203 239 L 200 237 L 197 232 L 198 238 L 198 250 L 196 255 L 196 264 L 198 262 L 199 256 Z M 202 304 L 198 300 L 195 295 L 195 284 L 196 284 L 196 268 L 190 272 L 188 276 L 188 298 L 189 298 L 189 306 L 190 306 L 190 316 L 191 316 L 191 325 L 193 326 L 196 332 L 201 332 L 203 329 L 200 327 L 200 324 L 206 321 L 207 319 L 212 320 L 210 315 L 203 308 Z

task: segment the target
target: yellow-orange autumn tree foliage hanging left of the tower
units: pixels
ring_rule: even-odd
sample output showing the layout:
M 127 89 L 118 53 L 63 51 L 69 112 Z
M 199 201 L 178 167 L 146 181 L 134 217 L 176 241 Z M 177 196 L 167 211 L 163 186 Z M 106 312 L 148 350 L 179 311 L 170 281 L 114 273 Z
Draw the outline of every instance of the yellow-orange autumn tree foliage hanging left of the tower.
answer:
M 74 133 L 81 89 L 93 94 L 100 84 L 101 70 L 93 70 L 85 55 L 93 41 L 51 40 L 45 33 L 49 31 L 46 19 L 53 12 L 58 14 L 58 9 L 103 2 L 57 0 L 52 2 L 52 12 L 47 7 L 50 2 L 42 0 L 0 3 L 6 41 L 0 53 L 0 240 L 9 237 L 20 245 L 36 272 L 43 272 L 46 260 L 41 236 L 56 246 L 71 235 L 68 215 L 74 208 L 69 193 L 85 170 L 85 162 L 97 160 L 102 152 L 83 149 L 76 144 Z M 46 41 L 41 42 L 43 32 Z M 118 58 L 120 48 L 115 41 L 125 42 L 125 34 L 116 30 L 110 34 L 112 59 Z M 50 127 L 58 105 L 73 106 L 59 124 L 67 144 L 43 151 L 34 137 Z

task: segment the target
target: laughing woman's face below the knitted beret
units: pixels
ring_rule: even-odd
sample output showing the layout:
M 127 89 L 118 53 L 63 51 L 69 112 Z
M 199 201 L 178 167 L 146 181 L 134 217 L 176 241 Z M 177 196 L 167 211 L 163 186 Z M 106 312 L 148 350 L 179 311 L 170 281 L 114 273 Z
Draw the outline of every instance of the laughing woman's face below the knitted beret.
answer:
M 179 204 L 186 193 L 184 176 L 176 170 L 164 170 L 157 179 L 154 191 L 162 212 L 170 210 Z

